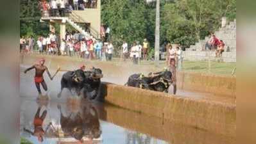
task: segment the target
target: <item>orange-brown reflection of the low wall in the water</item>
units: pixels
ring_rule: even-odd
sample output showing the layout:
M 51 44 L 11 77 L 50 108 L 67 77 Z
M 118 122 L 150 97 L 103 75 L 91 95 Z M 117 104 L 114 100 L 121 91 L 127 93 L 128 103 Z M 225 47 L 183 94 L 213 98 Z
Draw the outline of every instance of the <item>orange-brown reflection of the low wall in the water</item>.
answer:
M 212 132 L 199 131 L 194 127 L 168 122 L 156 116 L 141 115 L 114 106 L 105 106 L 104 109 L 105 115 L 101 117 L 102 120 L 169 143 L 235 143 L 232 136 L 219 136 Z

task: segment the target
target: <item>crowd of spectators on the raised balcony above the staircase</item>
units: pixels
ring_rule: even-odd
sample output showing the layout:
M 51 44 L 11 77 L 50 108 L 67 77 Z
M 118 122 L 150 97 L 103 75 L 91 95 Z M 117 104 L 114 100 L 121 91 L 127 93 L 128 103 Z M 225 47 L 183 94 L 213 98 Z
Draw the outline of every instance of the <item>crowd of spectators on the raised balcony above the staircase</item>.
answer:
M 65 17 L 72 10 L 97 8 L 97 0 L 41 0 L 40 10 L 43 17 Z

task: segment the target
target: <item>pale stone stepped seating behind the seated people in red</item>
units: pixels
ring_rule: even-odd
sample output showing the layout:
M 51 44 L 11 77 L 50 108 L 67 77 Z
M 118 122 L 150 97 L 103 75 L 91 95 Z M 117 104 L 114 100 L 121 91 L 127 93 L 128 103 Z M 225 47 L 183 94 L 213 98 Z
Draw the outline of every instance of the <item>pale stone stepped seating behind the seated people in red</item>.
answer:
M 227 26 L 220 28 L 214 34 L 219 38 L 219 40 L 223 40 L 225 43 L 225 52 L 223 52 L 221 61 L 236 62 L 236 20 L 234 20 L 234 22 L 230 22 Z M 209 54 L 203 51 L 208 40 L 209 37 L 207 36 L 204 40 L 199 40 L 195 45 L 191 45 L 191 47 L 185 49 L 183 52 L 184 60 L 208 60 Z M 211 60 L 216 60 L 216 58 L 214 58 L 214 52 L 210 54 L 210 57 Z

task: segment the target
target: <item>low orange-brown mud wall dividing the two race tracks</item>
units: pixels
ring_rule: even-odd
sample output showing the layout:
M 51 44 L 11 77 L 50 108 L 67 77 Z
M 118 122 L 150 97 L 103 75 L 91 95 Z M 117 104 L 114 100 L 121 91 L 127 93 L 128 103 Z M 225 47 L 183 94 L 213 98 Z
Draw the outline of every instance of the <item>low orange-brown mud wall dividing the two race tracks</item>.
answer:
M 236 133 L 235 104 L 189 99 L 110 83 L 103 84 L 102 92 L 110 104 L 157 116 L 166 122 L 225 136 L 235 136 Z

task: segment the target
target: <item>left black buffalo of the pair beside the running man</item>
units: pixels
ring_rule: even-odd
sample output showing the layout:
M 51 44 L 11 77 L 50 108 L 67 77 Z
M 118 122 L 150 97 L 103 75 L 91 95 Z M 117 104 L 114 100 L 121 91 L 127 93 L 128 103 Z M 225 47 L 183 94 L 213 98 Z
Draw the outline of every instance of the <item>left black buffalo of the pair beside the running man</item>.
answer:
M 80 95 L 81 89 L 83 88 L 83 83 L 85 81 L 85 74 L 83 70 L 75 70 L 75 71 L 69 71 L 66 72 L 62 76 L 62 81 L 61 81 L 61 90 L 60 93 L 58 93 L 58 97 L 61 97 L 62 95 L 62 90 L 64 88 L 67 88 L 71 94 L 73 93 L 73 90 Z

